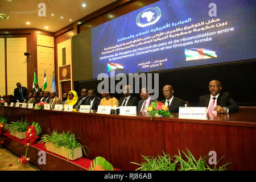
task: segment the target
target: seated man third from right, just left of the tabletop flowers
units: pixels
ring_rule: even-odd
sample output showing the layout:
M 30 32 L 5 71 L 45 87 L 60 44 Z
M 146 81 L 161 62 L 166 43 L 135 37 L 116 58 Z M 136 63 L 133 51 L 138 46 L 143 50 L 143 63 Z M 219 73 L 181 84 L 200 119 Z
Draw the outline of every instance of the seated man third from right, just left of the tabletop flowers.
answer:
M 147 107 L 151 104 L 151 102 L 156 102 L 156 100 L 151 100 L 151 97 L 149 97 L 149 93 L 146 88 L 141 89 L 141 98 L 142 100 L 138 102 L 138 112 L 147 112 Z

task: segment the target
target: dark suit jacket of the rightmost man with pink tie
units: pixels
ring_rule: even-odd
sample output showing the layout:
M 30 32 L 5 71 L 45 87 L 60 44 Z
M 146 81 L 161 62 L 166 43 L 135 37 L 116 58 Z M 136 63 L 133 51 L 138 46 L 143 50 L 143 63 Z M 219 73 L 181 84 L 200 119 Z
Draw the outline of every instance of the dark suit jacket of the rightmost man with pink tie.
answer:
M 197 106 L 208 107 L 210 101 L 210 94 L 200 96 L 197 102 Z M 238 111 L 238 104 L 230 96 L 229 92 L 221 92 L 217 98 L 217 105 L 221 107 L 228 107 L 229 113 Z

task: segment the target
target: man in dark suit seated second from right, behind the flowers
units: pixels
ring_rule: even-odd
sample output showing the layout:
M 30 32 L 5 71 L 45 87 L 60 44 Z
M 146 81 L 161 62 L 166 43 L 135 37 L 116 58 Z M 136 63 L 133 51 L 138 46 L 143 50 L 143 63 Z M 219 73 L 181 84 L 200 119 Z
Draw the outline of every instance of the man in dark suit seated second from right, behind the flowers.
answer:
M 160 101 L 169 108 L 170 113 L 179 113 L 179 107 L 184 107 L 184 101 L 180 98 L 174 97 L 174 89 L 171 85 L 163 87 L 163 95 L 166 99 Z

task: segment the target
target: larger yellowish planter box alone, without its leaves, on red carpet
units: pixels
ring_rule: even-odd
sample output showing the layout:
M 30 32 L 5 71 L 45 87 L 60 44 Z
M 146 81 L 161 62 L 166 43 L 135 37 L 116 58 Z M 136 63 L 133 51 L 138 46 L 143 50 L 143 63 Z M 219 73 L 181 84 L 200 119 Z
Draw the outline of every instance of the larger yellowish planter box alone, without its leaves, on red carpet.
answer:
M 48 142 L 46 143 L 46 150 L 53 152 L 57 155 L 63 156 L 64 158 L 67 158 L 69 160 L 76 160 L 82 157 L 82 147 L 75 148 L 73 156 L 71 155 L 72 150 L 65 150 L 64 147 L 56 148 L 52 143 Z

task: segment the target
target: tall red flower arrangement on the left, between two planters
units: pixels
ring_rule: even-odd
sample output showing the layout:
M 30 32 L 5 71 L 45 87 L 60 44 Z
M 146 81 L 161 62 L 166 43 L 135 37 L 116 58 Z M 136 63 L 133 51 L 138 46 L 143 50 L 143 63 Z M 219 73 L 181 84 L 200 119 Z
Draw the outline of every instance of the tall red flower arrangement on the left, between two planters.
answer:
M 22 155 L 21 158 L 17 159 L 18 163 L 21 162 L 24 165 L 27 164 L 28 160 L 30 160 L 30 158 L 27 158 L 28 147 L 35 143 L 36 139 L 39 138 L 40 134 L 41 134 L 41 126 L 38 123 L 32 122 L 32 125 L 27 127 L 26 138 L 25 138 L 25 142 L 27 146 L 26 154 Z

